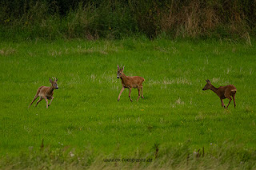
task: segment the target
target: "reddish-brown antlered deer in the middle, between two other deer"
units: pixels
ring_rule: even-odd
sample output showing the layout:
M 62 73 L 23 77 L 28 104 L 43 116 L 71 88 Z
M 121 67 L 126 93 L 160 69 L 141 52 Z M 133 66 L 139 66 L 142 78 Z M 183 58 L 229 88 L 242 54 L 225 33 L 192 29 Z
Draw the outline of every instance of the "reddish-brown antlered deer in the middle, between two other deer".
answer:
M 130 98 L 130 92 L 131 92 L 131 89 L 134 88 L 134 89 L 138 89 L 138 99 L 139 97 L 142 96 L 143 97 L 143 93 L 142 93 L 142 82 L 145 81 L 143 77 L 139 77 L 139 76 L 134 76 L 134 77 L 129 77 L 129 76 L 126 76 L 124 73 L 123 73 L 123 69 L 124 69 L 124 66 L 122 67 L 122 69 L 119 68 L 119 65 L 118 65 L 118 75 L 117 75 L 117 78 L 121 78 L 122 80 L 122 89 L 119 93 L 119 96 L 118 96 L 118 101 L 120 100 L 120 97 L 121 97 L 121 94 L 123 92 L 123 90 L 125 88 L 129 89 L 129 98 Z M 138 101 L 137 99 L 137 101 Z M 130 98 L 130 101 L 133 101 L 131 100 Z

